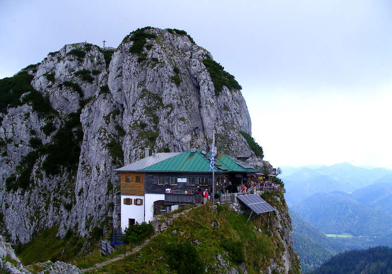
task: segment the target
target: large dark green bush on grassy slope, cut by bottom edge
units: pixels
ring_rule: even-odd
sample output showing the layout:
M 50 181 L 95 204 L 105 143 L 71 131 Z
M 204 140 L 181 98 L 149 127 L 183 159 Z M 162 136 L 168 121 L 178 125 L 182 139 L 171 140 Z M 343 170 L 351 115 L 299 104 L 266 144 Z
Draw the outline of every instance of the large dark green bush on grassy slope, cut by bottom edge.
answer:
M 199 252 L 190 241 L 172 244 L 165 249 L 168 263 L 177 274 L 202 274 L 204 273 L 204 262 Z

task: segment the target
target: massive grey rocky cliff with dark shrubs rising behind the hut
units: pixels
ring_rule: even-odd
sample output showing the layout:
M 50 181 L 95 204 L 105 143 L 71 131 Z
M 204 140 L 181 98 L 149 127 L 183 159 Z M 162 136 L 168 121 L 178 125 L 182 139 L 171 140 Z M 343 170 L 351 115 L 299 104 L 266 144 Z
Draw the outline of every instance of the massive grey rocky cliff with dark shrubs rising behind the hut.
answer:
M 241 86 L 184 31 L 66 45 L 0 81 L 0 229 L 13 244 L 116 223 L 112 170 L 144 147 L 208 148 L 215 132 L 221 151 L 260 161 Z

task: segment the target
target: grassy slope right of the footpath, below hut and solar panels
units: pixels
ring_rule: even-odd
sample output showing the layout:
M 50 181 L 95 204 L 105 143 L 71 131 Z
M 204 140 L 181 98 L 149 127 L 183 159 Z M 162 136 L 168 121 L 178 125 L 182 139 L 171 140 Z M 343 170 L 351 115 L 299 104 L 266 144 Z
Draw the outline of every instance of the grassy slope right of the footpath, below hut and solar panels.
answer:
M 187 240 L 199 242 L 196 248 L 205 265 L 209 266 L 208 273 L 221 272 L 219 267 L 212 267 L 217 261 L 218 254 L 230 261 L 232 266 L 238 265 L 234 262 L 232 254 L 223 249 L 223 239 L 238 242 L 239 246 L 243 246 L 245 266 L 249 274 L 265 271 L 270 265 L 271 258 L 279 265 L 283 264 L 280 254 L 283 245 L 277 240 L 278 231 L 272 229 L 272 232 L 269 232 L 263 219 L 262 222 L 259 218 L 253 219 L 246 224 L 246 215 L 237 214 L 224 206 L 218 211 L 207 206 L 197 207 L 173 220 L 167 230 L 156 236 L 140 251 L 92 273 L 175 273 L 169 266 L 166 247 Z M 262 232 L 256 228 L 261 228 Z M 177 233 L 173 233 L 174 230 Z M 295 272 L 299 273 L 299 267 Z

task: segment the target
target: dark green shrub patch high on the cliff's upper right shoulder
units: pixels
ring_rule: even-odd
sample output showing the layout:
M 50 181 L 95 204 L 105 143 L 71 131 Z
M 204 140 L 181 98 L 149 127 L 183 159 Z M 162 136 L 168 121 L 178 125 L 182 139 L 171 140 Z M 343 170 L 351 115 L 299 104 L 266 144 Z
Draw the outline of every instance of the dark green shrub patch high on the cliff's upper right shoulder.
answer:
M 224 68 L 221 66 L 221 64 L 209 58 L 204 59 L 203 64 L 204 66 L 206 66 L 207 71 L 210 73 L 211 81 L 214 83 L 216 96 L 219 96 L 219 94 L 223 89 L 223 86 L 227 87 L 229 90 L 242 89 L 242 87 L 240 86 L 240 84 L 238 84 L 234 76 L 224 71 Z

